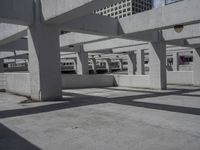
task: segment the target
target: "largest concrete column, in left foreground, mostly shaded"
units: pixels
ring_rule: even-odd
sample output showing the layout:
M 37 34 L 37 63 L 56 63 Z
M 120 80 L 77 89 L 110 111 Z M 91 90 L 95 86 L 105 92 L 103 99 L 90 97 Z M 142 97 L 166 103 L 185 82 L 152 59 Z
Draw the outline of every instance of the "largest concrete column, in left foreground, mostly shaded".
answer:
M 31 98 L 60 100 L 62 98 L 59 30 L 40 22 L 39 1 L 36 3 L 35 23 L 29 26 L 29 72 Z

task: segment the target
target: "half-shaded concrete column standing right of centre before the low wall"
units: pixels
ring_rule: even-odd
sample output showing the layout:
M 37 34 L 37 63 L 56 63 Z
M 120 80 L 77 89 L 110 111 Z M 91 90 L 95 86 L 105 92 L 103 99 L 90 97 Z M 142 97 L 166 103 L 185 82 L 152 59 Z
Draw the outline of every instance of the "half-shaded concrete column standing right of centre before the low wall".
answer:
M 149 43 L 150 48 L 150 87 L 167 89 L 166 44 L 165 42 Z

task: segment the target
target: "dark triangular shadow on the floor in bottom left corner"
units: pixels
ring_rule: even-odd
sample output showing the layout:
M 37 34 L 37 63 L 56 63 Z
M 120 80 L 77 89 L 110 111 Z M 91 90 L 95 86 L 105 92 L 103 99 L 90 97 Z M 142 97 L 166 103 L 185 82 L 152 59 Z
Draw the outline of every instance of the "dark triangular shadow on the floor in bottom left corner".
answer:
M 0 123 L 1 150 L 41 150 L 25 138 Z

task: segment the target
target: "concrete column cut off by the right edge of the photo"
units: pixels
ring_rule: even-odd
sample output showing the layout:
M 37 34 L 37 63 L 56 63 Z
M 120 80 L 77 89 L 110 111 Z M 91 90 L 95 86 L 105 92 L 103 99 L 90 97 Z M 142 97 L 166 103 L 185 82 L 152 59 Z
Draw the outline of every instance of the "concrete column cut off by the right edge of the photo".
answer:
M 200 48 L 193 50 L 193 84 L 200 86 Z

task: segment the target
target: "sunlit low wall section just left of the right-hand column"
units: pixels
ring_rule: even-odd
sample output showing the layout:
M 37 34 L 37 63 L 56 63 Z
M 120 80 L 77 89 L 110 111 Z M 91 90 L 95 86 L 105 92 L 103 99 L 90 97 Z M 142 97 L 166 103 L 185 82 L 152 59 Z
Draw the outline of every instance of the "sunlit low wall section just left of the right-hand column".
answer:
M 115 85 L 122 87 L 149 88 L 149 75 L 114 75 Z

